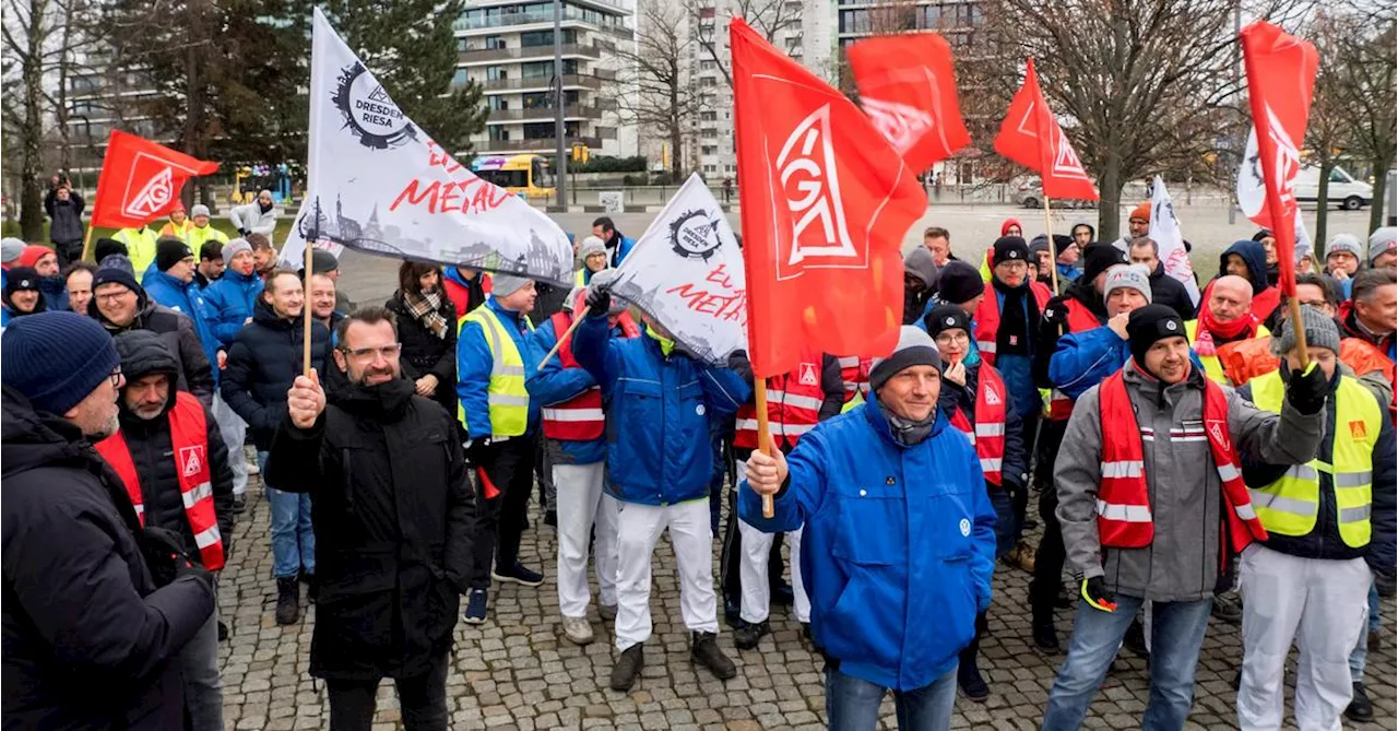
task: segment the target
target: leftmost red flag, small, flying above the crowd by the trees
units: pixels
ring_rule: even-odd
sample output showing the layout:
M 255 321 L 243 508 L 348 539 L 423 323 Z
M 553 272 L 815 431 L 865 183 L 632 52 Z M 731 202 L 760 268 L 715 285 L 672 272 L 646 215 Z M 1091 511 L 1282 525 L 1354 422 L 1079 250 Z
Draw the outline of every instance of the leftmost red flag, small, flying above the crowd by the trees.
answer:
M 208 175 L 217 162 L 204 162 L 134 134 L 112 130 L 106 159 L 96 180 L 92 225 L 137 228 L 179 204 L 185 180 Z

